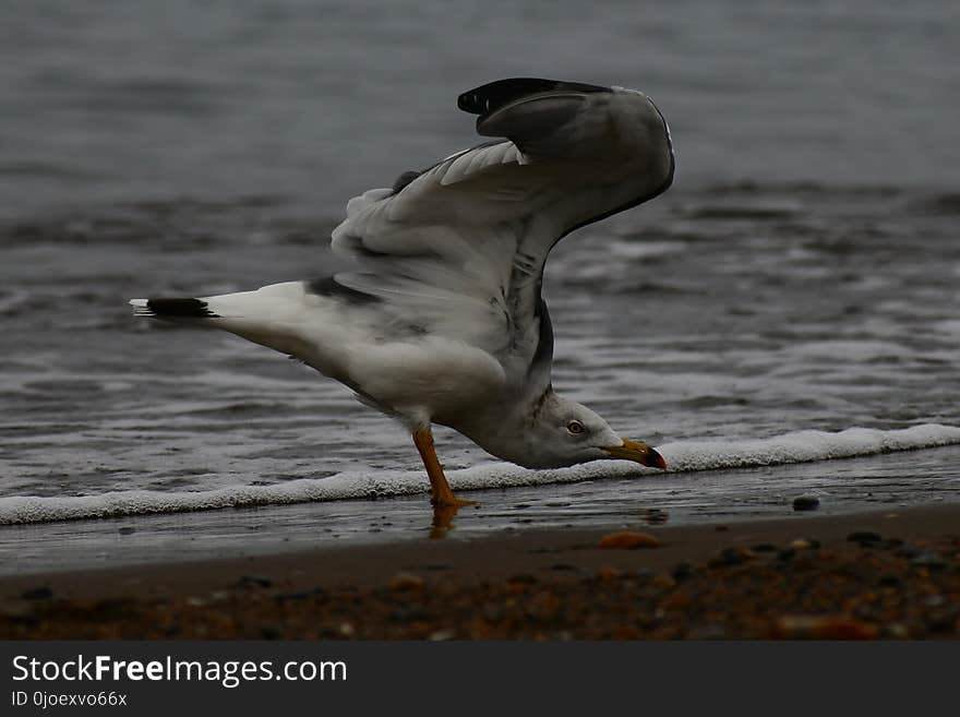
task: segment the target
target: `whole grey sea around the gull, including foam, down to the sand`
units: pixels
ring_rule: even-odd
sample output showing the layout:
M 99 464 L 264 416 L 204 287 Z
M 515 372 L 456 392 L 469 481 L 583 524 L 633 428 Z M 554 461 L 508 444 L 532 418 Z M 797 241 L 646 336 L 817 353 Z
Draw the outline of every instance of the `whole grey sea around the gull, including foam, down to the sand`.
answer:
M 638 87 L 671 123 L 674 187 L 562 242 L 545 292 L 556 387 L 698 471 L 537 474 L 439 430 L 454 487 L 490 489 L 457 535 L 780 515 L 811 491 L 837 511 L 960 500 L 960 449 L 886 453 L 960 426 L 953 3 L 8 2 L 0 20 L 0 522 L 121 516 L 0 528 L 4 569 L 172 554 L 184 533 L 191 554 L 419 535 L 425 494 L 356 500 L 425 490 L 400 428 L 124 302 L 322 271 L 345 201 L 472 144 L 456 95 L 518 74 Z M 884 433 L 802 433 L 852 428 Z M 271 506 L 334 498 L 353 500 Z M 265 506 L 145 516 L 235 504 Z

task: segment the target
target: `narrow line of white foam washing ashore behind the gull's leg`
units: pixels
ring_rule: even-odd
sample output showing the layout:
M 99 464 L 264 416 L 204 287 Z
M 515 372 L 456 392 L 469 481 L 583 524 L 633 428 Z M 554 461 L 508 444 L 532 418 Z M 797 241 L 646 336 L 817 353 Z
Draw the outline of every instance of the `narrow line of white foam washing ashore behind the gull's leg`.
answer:
M 691 473 L 850 458 L 955 444 L 960 444 L 960 427 L 926 423 L 886 431 L 849 428 L 839 432 L 797 431 L 744 441 L 682 441 L 657 446 L 657 450 L 667 459 L 669 473 Z M 453 470 L 447 477 L 455 490 L 473 490 L 635 477 L 638 471 L 660 475 L 625 462 L 596 462 L 557 470 L 527 470 L 508 464 L 488 464 Z M 385 498 L 425 493 L 427 486 L 420 471 L 380 470 L 195 492 L 130 490 L 69 498 L 9 497 L 0 499 L 0 525 Z

